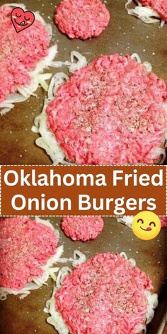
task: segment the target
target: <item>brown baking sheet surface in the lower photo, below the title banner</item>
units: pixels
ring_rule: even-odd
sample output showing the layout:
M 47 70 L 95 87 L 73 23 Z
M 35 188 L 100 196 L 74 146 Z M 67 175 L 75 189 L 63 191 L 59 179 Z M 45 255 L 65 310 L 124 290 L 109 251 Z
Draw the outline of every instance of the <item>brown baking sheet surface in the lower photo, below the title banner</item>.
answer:
M 46 218 L 47 219 L 47 218 Z M 49 218 L 48 218 L 49 219 Z M 51 218 L 54 227 L 59 229 L 60 219 Z M 64 244 L 63 257 L 72 257 L 75 249 L 81 250 L 89 258 L 96 253 L 110 251 L 120 253 L 125 251 L 128 258 L 134 258 L 137 266 L 144 270 L 154 284 L 154 292 L 164 297 L 164 279 L 166 275 L 165 249 L 166 229 L 152 241 L 142 241 L 134 236 L 127 226 L 117 223 L 115 218 L 104 218 L 105 226 L 102 233 L 94 241 L 81 243 L 71 241 L 60 230 L 60 244 Z M 55 334 L 52 326 L 46 323 L 47 315 L 43 312 L 45 302 L 50 299 L 53 283 L 31 292 L 30 296 L 20 300 L 18 296 L 8 296 L 0 302 L 0 333 L 2 334 Z M 148 334 L 159 334 L 159 328 L 164 315 L 163 298 L 157 317 L 148 326 Z M 123 333 L 122 333 L 123 334 Z

